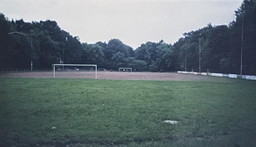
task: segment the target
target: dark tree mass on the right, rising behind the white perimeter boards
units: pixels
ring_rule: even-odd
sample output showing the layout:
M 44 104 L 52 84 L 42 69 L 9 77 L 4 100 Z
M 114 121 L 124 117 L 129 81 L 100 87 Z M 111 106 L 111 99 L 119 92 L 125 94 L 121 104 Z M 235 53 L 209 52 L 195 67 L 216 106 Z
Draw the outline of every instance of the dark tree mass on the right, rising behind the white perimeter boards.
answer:
M 198 71 L 201 45 L 202 71 L 210 69 L 212 72 L 239 74 L 243 28 L 243 74 L 256 75 L 255 26 L 255 0 L 244 0 L 236 11 L 236 21 L 231 22 L 229 26 L 209 24 L 202 29 L 184 33 L 184 37 L 174 43 L 174 52 L 178 57 L 177 69 L 185 70 L 186 57 L 187 70 Z

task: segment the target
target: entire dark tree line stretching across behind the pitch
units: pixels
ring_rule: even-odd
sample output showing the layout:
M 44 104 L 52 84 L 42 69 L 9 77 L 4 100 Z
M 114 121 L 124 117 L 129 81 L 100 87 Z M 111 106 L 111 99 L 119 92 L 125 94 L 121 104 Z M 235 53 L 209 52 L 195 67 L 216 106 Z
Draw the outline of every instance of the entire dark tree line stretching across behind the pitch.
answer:
M 0 13 L 0 69 L 50 69 L 53 63 L 97 64 L 99 68 L 130 67 L 137 71 L 240 73 L 256 75 L 255 0 L 244 0 L 229 25 L 186 32 L 176 43 L 160 40 L 132 49 L 119 39 L 95 44 L 81 43 L 79 37 L 62 30 L 55 21 L 9 20 Z M 21 32 L 8 34 L 10 32 Z M 243 36 L 243 39 L 241 39 Z M 32 50 L 31 50 L 32 41 Z M 199 55 L 199 48 L 201 54 Z

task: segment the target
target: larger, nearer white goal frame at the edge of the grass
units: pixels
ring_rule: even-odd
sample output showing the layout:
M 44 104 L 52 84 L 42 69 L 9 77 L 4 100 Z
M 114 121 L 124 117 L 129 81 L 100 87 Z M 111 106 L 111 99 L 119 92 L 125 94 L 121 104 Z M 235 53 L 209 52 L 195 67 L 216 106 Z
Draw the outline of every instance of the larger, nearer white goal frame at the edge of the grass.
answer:
M 55 66 L 57 66 L 57 67 L 61 66 L 62 67 L 62 68 L 57 68 L 57 71 L 59 71 L 59 70 L 60 71 L 61 70 L 64 71 L 64 66 L 71 66 L 71 67 L 73 67 L 71 69 L 68 69 L 68 70 L 72 70 L 72 71 L 81 71 L 80 68 L 76 68 L 76 67 L 81 67 L 81 66 L 86 67 L 87 66 L 87 68 L 89 68 L 88 71 L 94 71 L 94 69 L 91 67 L 91 66 L 93 66 L 93 67 L 95 67 L 95 79 L 97 79 L 97 65 L 87 65 L 87 64 L 52 64 L 52 66 L 53 66 L 53 78 L 55 78 Z

